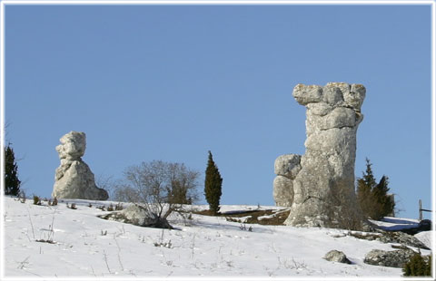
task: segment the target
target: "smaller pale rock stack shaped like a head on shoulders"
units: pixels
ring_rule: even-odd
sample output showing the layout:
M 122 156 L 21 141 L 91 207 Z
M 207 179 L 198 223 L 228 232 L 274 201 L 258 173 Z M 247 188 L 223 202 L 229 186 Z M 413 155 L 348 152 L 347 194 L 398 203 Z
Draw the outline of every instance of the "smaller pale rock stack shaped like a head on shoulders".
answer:
M 56 146 L 61 166 L 56 169 L 52 196 L 58 199 L 105 200 L 108 194 L 95 185 L 94 174 L 82 160 L 86 148 L 84 132 L 70 131 Z

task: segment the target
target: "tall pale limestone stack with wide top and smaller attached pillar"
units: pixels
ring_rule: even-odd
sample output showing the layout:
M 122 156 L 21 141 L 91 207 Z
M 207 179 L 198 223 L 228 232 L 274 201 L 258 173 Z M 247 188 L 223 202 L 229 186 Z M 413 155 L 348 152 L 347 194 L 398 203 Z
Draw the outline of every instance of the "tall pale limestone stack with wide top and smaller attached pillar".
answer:
M 287 225 L 337 227 L 344 223 L 344 205 L 355 203 L 356 131 L 365 88 L 343 82 L 298 84 L 292 95 L 306 107 L 306 151 L 275 160 L 274 199 L 278 206 L 291 207 Z

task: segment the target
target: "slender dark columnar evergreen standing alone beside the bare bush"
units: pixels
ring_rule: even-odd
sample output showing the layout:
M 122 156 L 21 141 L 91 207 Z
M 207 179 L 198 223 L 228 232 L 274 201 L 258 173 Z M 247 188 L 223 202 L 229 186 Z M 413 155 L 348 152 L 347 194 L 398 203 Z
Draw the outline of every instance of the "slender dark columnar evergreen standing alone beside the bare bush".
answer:
M 206 197 L 209 209 L 216 215 L 220 210 L 220 199 L 222 195 L 221 187 L 223 179 L 220 171 L 213 161 L 212 152 L 209 151 L 209 159 L 207 160 L 206 177 L 204 179 L 204 196 Z

